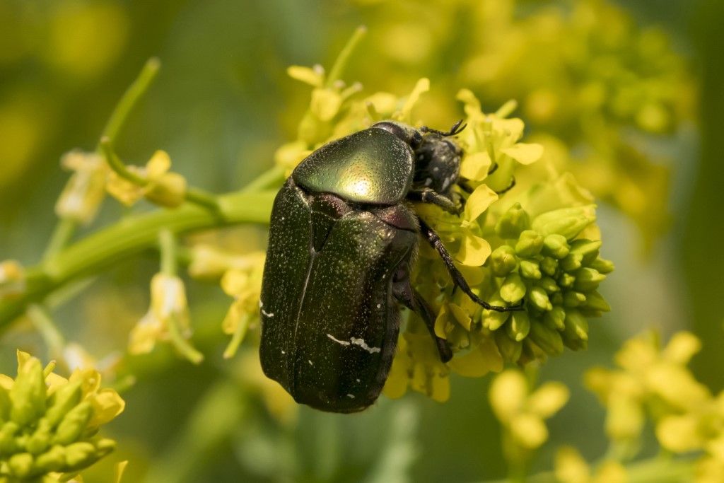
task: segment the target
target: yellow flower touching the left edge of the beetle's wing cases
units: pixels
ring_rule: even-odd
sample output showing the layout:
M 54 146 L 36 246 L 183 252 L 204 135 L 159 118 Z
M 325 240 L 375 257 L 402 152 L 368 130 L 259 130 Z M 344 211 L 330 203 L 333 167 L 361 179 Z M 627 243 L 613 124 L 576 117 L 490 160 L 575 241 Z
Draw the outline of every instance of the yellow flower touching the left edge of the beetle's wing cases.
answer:
M 242 263 L 243 262 L 243 263 Z M 264 273 L 264 252 L 253 252 L 240 257 L 237 268 L 227 270 L 222 277 L 222 289 L 234 298 L 222 329 L 232 335 L 224 357 L 234 356 L 249 326 L 258 321 L 261 307 L 261 275 Z

